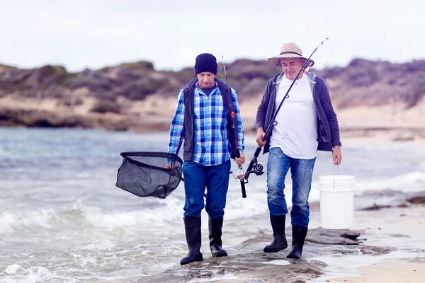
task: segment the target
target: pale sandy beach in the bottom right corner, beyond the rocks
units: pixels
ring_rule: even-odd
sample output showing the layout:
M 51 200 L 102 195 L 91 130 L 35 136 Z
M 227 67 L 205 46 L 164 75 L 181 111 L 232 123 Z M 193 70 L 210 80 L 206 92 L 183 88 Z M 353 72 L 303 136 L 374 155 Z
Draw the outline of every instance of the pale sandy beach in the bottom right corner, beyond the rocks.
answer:
M 361 198 L 356 200 L 361 205 Z M 379 202 L 378 202 L 379 203 Z M 380 202 L 380 205 L 391 205 Z M 425 205 L 392 207 L 354 212 L 354 230 L 364 230 L 366 245 L 389 247 L 385 255 L 319 258 L 327 262 L 324 275 L 311 282 L 423 282 L 425 277 Z

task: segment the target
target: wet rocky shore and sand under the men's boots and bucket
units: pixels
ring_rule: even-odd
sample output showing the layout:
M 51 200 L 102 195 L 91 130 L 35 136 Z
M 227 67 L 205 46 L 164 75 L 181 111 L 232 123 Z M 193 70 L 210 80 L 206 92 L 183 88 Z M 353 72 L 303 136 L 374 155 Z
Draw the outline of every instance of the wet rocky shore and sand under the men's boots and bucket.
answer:
M 353 226 L 361 229 L 322 229 L 313 221 L 310 226 L 316 228 L 307 234 L 302 260 L 285 258 L 289 248 L 264 253 L 271 236 L 259 233 L 229 248 L 228 257 L 204 256 L 203 262 L 142 277 L 137 282 L 360 282 L 359 277 L 361 282 L 421 282 L 425 275 L 424 246 L 412 248 L 407 242 L 425 241 L 425 192 L 368 192 L 356 196 L 355 202 Z M 311 209 L 317 212 L 319 204 L 312 204 Z M 406 231 L 406 226 L 411 230 Z M 290 243 L 290 226 L 285 233 Z M 385 269 L 387 260 L 396 260 L 404 268 Z M 387 281 L 380 280 L 374 266 L 387 272 L 381 275 Z M 405 281 L 392 281 L 401 278 L 400 272 Z

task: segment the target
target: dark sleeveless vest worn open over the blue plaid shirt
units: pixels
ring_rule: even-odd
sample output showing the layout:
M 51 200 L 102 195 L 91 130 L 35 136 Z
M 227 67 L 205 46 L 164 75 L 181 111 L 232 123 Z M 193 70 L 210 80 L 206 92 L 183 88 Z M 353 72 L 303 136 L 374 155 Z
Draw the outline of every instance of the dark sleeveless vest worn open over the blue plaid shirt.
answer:
M 184 161 L 193 161 L 193 90 L 198 79 L 193 79 L 186 88 L 183 88 L 184 92 L 184 144 L 183 144 L 183 160 Z M 237 145 L 237 118 L 236 116 L 232 117 L 232 112 L 234 111 L 232 103 L 232 89 L 227 86 L 226 83 L 215 78 L 215 81 L 218 83 L 218 88 L 222 98 L 225 101 L 225 107 L 227 110 L 227 137 L 229 139 L 230 146 L 232 146 L 232 152 L 230 153 L 231 158 L 235 157 L 236 145 Z M 239 153 L 237 154 L 239 155 Z

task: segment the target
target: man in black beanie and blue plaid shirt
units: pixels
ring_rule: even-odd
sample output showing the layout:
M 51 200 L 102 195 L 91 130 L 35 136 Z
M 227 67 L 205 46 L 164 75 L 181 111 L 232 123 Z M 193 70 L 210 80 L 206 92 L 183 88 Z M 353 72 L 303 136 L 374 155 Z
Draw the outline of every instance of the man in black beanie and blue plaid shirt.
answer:
M 217 75 L 212 54 L 196 57 L 196 79 L 179 91 L 171 122 L 168 152 L 178 154 L 183 144 L 185 205 L 183 221 L 188 255 L 181 265 L 203 260 L 200 253 L 200 214 L 208 213 L 210 250 L 213 257 L 227 256 L 222 249 L 222 226 L 229 186 L 230 158 L 245 162 L 244 129 L 236 92 Z M 167 164 L 171 168 L 172 164 Z M 204 192 L 207 189 L 204 204 Z

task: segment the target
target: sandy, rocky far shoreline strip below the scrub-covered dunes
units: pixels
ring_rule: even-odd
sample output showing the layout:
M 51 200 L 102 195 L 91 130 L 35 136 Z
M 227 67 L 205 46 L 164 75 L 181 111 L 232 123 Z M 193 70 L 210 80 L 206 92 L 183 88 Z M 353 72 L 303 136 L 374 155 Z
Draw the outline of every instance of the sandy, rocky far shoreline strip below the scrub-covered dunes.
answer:
M 256 133 L 255 115 L 261 96 L 239 103 L 244 131 Z M 0 126 L 73 127 L 130 132 L 168 132 L 176 97 L 147 96 L 145 100 L 123 102 L 122 112 L 92 112 L 95 100 L 85 98 L 74 108 L 54 98 L 38 100 L 18 96 L 0 98 Z M 413 108 L 403 103 L 373 107 L 335 108 L 341 141 L 348 138 L 382 141 L 425 142 L 425 100 Z M 378 138 L 379 137 L 379 138 Z

